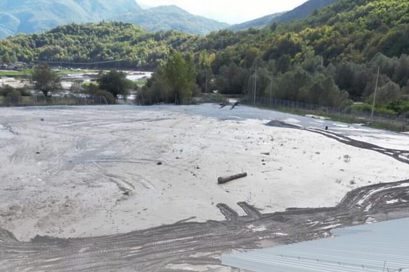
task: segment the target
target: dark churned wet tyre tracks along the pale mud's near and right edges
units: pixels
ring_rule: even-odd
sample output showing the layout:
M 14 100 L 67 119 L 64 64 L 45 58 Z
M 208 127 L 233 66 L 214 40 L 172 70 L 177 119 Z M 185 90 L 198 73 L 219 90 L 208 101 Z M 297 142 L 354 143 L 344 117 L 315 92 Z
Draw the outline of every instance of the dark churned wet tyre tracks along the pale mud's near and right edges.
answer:
M 384 149 L 322 130 L 280 126 L 319 133 L 361 149 L 409 163 L 408 151 Z M 177 222 L 173 225 L 93 238 L 37 236 L 20 242 L 0 228 L 0 271 L 183 271 L 183 265 L 220 265 L 232 250 L 306 241 L 330 235 L 333 228 L 409 217 L 409 180 L 374 184 L 349 192 L 335 207 L 261 213 L 238 203 L 245 216 L 218 204 L 223 221 Z

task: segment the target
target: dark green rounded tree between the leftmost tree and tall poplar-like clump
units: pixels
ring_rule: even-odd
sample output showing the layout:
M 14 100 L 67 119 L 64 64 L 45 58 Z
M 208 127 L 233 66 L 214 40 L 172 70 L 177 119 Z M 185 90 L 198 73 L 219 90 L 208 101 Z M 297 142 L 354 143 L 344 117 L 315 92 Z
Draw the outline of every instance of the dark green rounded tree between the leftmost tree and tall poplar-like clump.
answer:
M 126 78 L 126 73 L 116 70 L 111 70 L 102 75 L 98 79 L 98 83 L 100 89 L 110 92 L 117 98 L 119 95 L 126 97 L 129 94 L 129 88 L 132 86 L 132 82 Z

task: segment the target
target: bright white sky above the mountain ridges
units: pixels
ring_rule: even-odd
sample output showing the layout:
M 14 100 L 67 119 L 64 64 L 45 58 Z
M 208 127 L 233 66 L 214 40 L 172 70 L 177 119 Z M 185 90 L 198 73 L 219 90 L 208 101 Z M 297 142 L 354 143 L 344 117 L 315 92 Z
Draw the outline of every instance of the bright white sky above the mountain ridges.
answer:
M 188 12 L 227 23 L 240 23 L 291 10 L 307 0 L 137 0 L 142 7 L 176 5 Z

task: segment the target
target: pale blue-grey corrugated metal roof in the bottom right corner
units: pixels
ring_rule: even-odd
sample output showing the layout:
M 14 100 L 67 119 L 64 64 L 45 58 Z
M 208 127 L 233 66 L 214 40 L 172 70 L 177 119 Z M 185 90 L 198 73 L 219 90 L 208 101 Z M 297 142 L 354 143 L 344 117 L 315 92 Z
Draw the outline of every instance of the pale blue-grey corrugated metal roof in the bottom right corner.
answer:
M 333 230 L 335 237 L 222 256 L 251 271 L 409 271 L 409 218 Z M 402 269 L 402 270 L 400 270 Z

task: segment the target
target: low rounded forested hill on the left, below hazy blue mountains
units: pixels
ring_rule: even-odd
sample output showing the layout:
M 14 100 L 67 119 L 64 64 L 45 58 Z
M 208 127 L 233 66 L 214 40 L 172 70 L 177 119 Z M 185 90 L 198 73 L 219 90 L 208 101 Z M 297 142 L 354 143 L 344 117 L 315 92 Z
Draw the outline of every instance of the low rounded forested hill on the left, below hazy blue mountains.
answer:
M 171 48 L 188 44 L 187 41 L 195 37 L 174 31 L 147 32 L 123 22 L 73 23 L 47 33 L 19 34 L 0 40 L 0 56 L 4 63 L 36 60 L 57 62 L 55 65 L 123 59 L 116 65 L 154 69 L 169 55 Z M 104 67 L 102 65 L 97 67 Z

